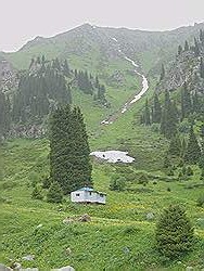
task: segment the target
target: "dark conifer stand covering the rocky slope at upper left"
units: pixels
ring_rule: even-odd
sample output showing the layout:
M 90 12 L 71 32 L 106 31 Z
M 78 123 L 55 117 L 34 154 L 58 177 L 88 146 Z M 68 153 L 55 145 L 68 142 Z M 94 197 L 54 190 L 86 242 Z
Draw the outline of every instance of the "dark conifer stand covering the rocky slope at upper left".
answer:
M 31 59 L 28 70 L 18 73 L 17 89 L 13 93 L 0 91 L 1 133 L 7 134 L 12 124 L 41 124 L 58 105 L 72 104 L 74 83 L 94 101 L 109 105 L 98 76 L 72 70 L 67 60 L 48 61 L 44 55 Z

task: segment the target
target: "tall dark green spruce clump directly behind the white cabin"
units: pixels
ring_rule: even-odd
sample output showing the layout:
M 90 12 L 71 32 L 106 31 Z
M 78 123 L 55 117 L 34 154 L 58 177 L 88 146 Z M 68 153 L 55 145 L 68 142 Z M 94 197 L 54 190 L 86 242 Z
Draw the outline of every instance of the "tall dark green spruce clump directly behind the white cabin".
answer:
M 59 107 L 50 121 L 50 178 L 64 194 L 92 185 L 88 136 L 78 107 Z

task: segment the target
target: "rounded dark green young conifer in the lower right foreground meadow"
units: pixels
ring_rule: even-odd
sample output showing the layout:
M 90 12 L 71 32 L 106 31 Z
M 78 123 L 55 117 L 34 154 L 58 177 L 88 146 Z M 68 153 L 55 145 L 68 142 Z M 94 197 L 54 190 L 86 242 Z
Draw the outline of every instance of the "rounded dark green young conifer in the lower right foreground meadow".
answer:
M 156 223 L 156 248 L 169 259 L 179 258 L 191 250 L 193 245 L 191 222 L 179 205 L 171 205 L 164 210 Z

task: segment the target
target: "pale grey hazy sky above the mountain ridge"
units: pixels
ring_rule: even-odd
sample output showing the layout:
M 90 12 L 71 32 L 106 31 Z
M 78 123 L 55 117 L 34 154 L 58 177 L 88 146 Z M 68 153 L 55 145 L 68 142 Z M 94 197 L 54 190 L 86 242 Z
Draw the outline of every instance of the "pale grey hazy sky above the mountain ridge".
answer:
M 204 0 L 0 0 L 0 51 L 84 23 L 166 30 L 204 22 Z

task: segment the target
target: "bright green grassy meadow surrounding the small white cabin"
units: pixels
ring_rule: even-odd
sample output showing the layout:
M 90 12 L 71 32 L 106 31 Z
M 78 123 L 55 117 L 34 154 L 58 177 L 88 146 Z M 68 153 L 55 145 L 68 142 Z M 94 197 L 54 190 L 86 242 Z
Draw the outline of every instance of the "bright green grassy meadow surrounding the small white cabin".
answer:
M 125 98 L 126 92 L 115 99 L 115 108 Z M 93 107 L 82 93 L 75 93 L 74 99 L 85 113 L 91 150 L 125 150 L 136 160 L 131 165 L 112 165 L 92 158 L 94 188 L 107 194 L 105 206 L 73 204 L 68 196 L 56 205 L 30 197 L 33 185 L 49 175 L 48 140 L 4 142 L 0 262 L 16 260 L 23 267 L 42 271 L 68 264 L 79 271 L 204 268 L 204 208 L 196 204 L 204 188 L 199 186 L 199 169 L 194 168 L 189 180 L 178 180 L 178 170 L 174 177 L 161 171 L 167 141 L 151 128 L 138 125 L 145 98 L 110 126 L 101 126 L 100 121 L 111 112 Z M 127 179 L 125 191 L 109 189 L 115 173 Z M 186 207 L 195 228 L 195 242 L 191 254 L 166 262 L 155 249 L 154 229 L 161 211 L 171 203 Z M 91 217 L 91 222 L 63 222 L 84 214 Z M 153 219 L 148 219 L 148 214 L 153 214 Z M 35 260 L 22 260 L 26 255 L 35 255 Z

